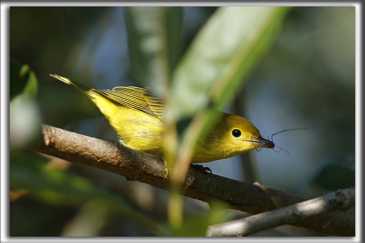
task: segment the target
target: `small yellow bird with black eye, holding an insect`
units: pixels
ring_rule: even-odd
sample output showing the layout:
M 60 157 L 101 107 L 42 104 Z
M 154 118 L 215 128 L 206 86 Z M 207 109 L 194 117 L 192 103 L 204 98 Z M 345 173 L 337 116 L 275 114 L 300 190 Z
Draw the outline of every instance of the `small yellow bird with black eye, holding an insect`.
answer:
M 92 89 L 68 78 L 50 75 L 85 93 L 109 120 L 122 144 L 138 150 L 162 151 L 164 104 L 149 88 Z M 262 138 L 249 120 L 220 112 L 215 125 L 198 141 L 192 163 L 229 158 L 259 147 L 274 148 L 275 144 Z

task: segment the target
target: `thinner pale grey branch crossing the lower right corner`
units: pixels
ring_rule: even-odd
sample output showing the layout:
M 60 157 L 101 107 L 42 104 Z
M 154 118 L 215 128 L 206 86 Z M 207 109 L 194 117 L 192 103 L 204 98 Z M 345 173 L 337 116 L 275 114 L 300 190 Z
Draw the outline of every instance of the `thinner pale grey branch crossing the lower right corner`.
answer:
M 355 206 L 355 188 L 340 189 L 288 207 L 260 213 L 222 224 L 208 226 L 206 236 L 247 236 L 285 224 L 294 224 L 310 216 Z

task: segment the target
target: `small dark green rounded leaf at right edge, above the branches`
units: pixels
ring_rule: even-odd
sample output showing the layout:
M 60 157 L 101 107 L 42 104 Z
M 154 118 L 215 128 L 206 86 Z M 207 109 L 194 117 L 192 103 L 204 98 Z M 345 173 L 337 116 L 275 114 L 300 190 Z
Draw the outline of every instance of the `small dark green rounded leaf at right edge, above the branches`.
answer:
M 326 165 L 320 169 L 313 183 L 329 191 L 355 187 L 355 171 L 345 166 Z

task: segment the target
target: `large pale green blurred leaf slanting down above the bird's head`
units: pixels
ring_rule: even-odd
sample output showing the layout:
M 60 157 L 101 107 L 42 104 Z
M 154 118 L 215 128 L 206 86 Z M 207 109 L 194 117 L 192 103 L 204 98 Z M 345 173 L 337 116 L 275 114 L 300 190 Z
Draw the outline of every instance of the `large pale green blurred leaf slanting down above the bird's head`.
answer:
M 197 34 L 173 75 L 178 119 L 231 102 L 243 78 L 274 43 L 288 7 L 220 7 Z

